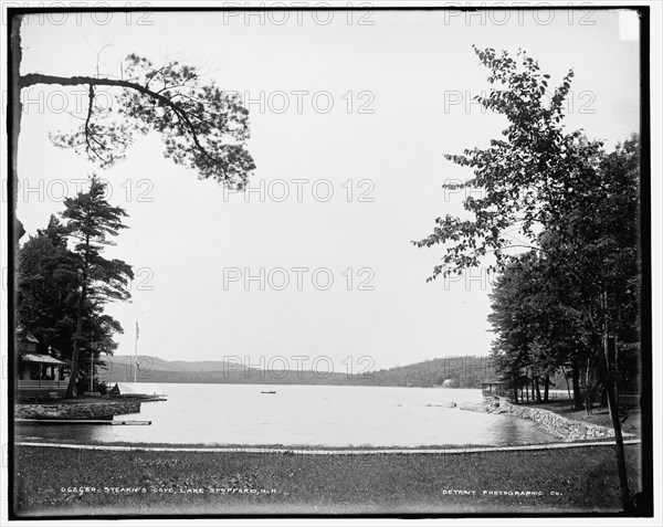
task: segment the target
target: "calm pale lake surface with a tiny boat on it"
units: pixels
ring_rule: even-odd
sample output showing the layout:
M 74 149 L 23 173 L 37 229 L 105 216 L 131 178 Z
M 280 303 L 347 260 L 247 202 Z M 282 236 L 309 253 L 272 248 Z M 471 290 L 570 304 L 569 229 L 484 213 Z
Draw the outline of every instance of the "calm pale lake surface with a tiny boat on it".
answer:
M 261 393 L 267 390 L 276 393 Z M 160 384 L 157 391 L 168 401 L 145 402 L 140 413 L 116 417 L 151 421 L 149 426 L 21 425 L 17 440 L 328 446 L 557 441 L 530 421 L 440 407 L 481 402 L 481 390 Z

